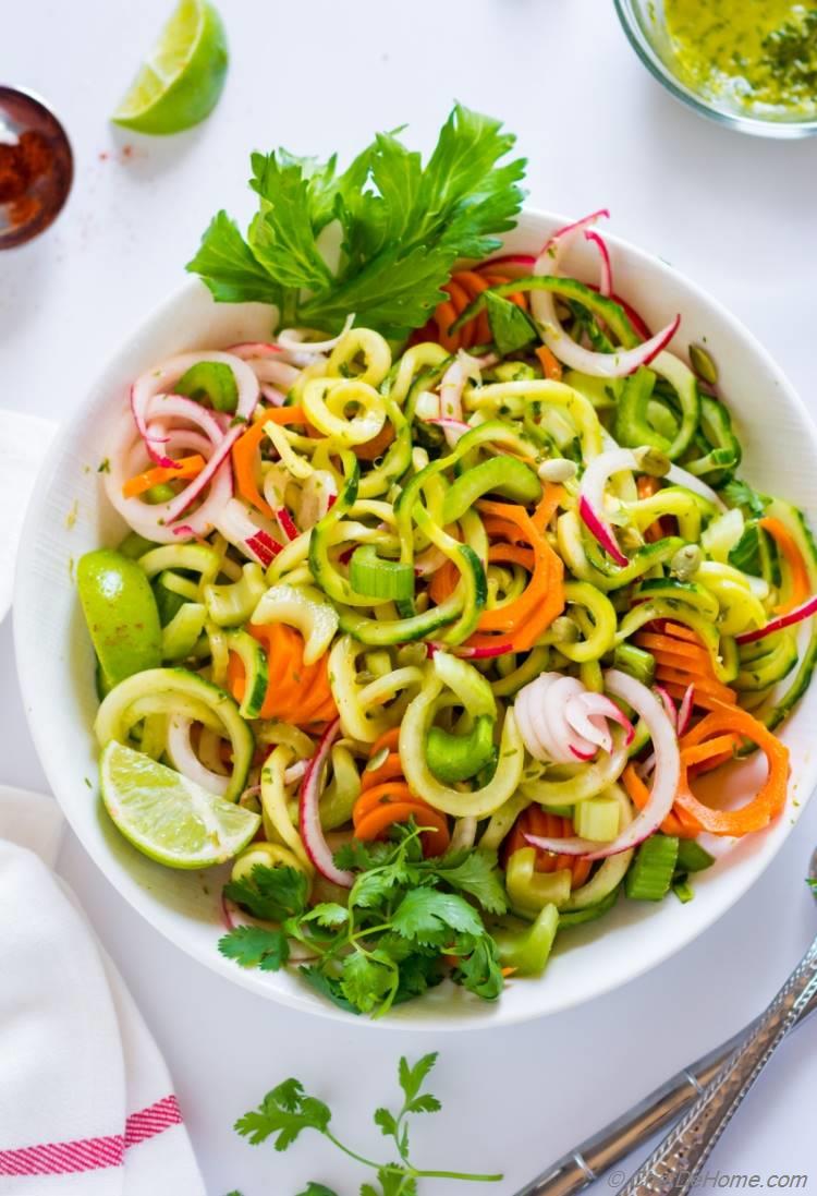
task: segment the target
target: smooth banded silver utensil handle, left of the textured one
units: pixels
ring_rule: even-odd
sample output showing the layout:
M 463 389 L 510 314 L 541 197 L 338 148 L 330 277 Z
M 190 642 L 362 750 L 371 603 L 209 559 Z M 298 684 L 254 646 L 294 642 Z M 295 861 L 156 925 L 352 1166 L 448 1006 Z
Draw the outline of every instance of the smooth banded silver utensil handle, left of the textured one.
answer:
M 817 994 L 800 1011 L 797 1024 L 815 1012 Z M 662 1084 L 621 1117 L 553 1163 L 536 1179 L 521 1188 L 516 1196 L 578 1196 L 616 1163 L 680 1117 L 701 1096 L 756 1024 L 757 1019 Z

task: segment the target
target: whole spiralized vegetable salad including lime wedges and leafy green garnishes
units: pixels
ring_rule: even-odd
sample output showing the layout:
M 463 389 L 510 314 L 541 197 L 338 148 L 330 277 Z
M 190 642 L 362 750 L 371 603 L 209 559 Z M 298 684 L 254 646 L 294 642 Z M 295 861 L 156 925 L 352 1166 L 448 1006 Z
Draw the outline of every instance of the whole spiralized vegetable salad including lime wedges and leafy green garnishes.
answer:
M 496 999 L 616 901 L 688 901 L 699 836 L 784 810 L 775 728 L 817 653 L 803 515 L 738 478 L 706 349 L 688 365 L 678 317 L 653 331 L 616 294 L 607 213 L 473 260 L 521 202 L 498 128 L 453 114 L 441 142 L 493 139 L 457 194 L 436 152 L 423 170 L 379 139 L 357 213 L 333 164 L 253 159 L 266 232 L 222 213 L 192 268 L 299 323 L 135 379 L 104 463 L 130 535 L 79 566 L 113 820 L 171 867 L 231 859 L 222 953 L 297 964 L 354 1012 L 446 977 Z M 423 226 L 440 281 L 389 249 L 395 146 L 418 210 L 434 171 L 449 203 Z M 284 193 L 301 238 L 340 213 L 346 266 L 320 285 L 317 239 L 284 268 Z M 755 749 L 757 792 L 711 806 L 701 776 Z

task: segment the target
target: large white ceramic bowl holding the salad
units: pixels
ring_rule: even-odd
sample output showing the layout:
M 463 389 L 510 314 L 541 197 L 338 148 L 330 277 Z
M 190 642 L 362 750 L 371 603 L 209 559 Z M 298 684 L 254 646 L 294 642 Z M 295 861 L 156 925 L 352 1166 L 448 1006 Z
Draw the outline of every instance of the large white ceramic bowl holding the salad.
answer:
M 535 251 L 564 224 L 527 212 L 509 234 L 508 251 Z M 745 450 L 742 472 L 817 517 L 817 434 L 791 384 L 757 341 L 723 307 L 665 263 L 610 237 L 616 291 L 651 324 L 682 316 L 674 348 L 706 341 L 718 361 L 724 393 Z M 570 263 L 595 277 L 589 246 Z M 111 359 L 91 386 L 70 425 L 55 440 L 29 511 L 19 555 L 14 604 L 18 667 L 37 750 L 74 831 L 111 884 L 162 934 L 236 984 L 274 1001 L 325 1017 L 346 1014 L 319 999 L 290 972 L 245 971 L 222 959 L 216 940 L 219 878 L 173 872 L 152 864 L 113 829 L 97 792 L 97 746 L 91 725 L 97 708 L 92 651 L 72 580 L 72 560 L 113 544 L 122 533 L 97 474 L 108 429 L 143 370 L 186 349 L 222 347 L 269 334 L 262 305 L 216 305 L 198 282 L 188 282 L 162 304 Z M 790 807 L 770 830 L 749 836 L 696 879 L 688 905 L 658 907 L 620 901 L 603 921 L 565 934 L 541 981 L 511 984 L 494 1005 L 453 986 L 395 1011 L 373 1025 L 417 1029 L 484 1027 L 541 1017 L 578 1005 L 632 980 L 683 947 L 720 917 L 773 859 L 817 780 L 817 755 L 809 752 L 817 718 L 817 687 L 786 725 L 792 752 Z M 732 781 L 751 783 L 744 765 Z M 800 805 L 792 805 L 797 795 Z

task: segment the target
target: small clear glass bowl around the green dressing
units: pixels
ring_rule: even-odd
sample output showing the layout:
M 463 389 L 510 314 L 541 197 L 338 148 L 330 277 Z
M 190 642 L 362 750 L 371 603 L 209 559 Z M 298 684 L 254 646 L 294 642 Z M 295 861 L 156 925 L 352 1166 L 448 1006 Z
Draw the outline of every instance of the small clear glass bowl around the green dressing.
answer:
M 813 116 L 785 111 L 752 112 L 727 96 L 705 96 L 678 74 L 678 63 L 664 20 L 664 0 L 615 0 L 624 30 L 650 74 L 688 108 L 718 124 L 760 138 L 807 138 L 817 133 L 817 104 Z

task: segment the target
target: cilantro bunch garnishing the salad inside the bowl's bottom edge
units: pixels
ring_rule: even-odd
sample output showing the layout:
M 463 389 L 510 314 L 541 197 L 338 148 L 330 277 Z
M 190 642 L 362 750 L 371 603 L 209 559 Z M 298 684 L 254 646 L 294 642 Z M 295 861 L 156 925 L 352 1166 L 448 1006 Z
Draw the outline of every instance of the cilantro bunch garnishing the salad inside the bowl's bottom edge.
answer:
M 227 884 L 226 897 L 278 925 L 236 927 L 220 940 L 221 953 L 244 968 L 277 971 L 296 940 L 314 957 L 300 968 L 303 978 L 351 1013 L 382 1017 L 438 984 L 452 960 L 459 984 L 484 1000 L 498 997 L 502 969 L 483 920 L 508 908 L 496 854 L 425 860 L 418 828 L 395 826 L 394 835 L 391 843 L 352 841 L 338 852 L 338 866 L 357 873 L 345 905 L 311 908 L 306 878 L 289 867 L 257 866 Z

